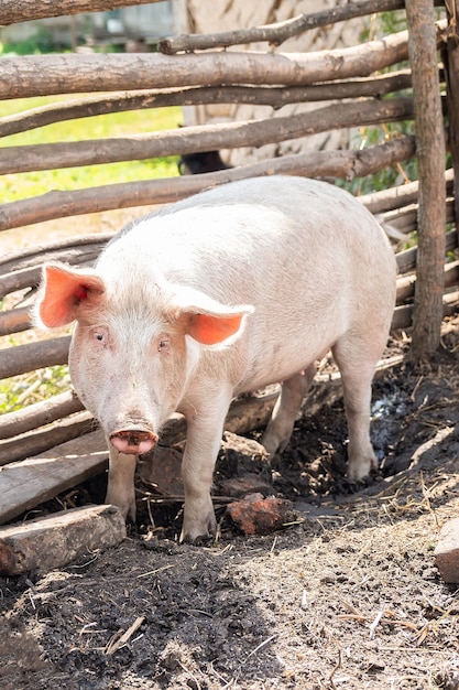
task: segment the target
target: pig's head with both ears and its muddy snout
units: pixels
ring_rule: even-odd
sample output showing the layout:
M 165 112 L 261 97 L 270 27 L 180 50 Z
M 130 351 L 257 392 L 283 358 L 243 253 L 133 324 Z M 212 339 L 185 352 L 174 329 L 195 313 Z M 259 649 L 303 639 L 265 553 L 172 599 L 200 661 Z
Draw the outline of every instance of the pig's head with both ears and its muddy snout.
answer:
M 164 281 L 131 276 L 125 284 L 125 274 L 123 282 L 48 265 L 34 316 L 46 328 L 76 322 L 75 390 L 119 452 L 142 454 L 186 395 L 203 351 L 231 345 L 252 311 Z

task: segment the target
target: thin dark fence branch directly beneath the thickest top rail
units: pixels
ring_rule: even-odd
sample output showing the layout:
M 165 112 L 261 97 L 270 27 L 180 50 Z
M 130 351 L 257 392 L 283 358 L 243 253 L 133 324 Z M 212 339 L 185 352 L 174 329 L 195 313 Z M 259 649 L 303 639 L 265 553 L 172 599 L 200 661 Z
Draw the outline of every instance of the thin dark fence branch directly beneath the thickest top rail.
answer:
M 123 112 L 168 106 L 198 106 L 206 104 L 249 104 L 271 106 L 275 110 L 288 104 L 338 100 L 341 98 L 382 98 L 387 94 L 411 87 L 408 69 L 332 84 L 313 86 L 256 87 L 209 86 L 184 89 L 123 91 L 109 96 L 89 96 L 67 103 L 50 104 L 24 112 L 0 118 L 0 137 L 9 137 L 53 122 L 73 120 L 110 112 Z

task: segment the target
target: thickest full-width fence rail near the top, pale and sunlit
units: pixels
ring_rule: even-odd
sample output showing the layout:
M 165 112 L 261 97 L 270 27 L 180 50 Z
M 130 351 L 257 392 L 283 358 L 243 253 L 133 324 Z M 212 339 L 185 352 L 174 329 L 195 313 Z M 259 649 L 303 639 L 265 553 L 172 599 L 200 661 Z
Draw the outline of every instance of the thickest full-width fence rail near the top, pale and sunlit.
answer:
M 446 22 L 438 22 L 439 39 Z M 312 53 L 62 54 L 2 57 L 0 99 L 188 86 L 308 86 L 369 76 L 408 57 L 407 32 Z M 103 78 L 101 77 L 103 75 Z

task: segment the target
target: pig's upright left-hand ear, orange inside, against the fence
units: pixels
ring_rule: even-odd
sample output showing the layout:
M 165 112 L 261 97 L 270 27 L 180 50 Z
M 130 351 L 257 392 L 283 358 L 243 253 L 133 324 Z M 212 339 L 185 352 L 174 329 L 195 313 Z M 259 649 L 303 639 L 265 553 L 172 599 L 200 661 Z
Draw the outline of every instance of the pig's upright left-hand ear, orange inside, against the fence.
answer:
M 43 282 L 35 303 L 34 316 L 46 328 L 65 326 L 75 321 L 77 308 L 91 293 L 102 293 L 103 281 L 94 273 L 48 265 L 43 269 Z

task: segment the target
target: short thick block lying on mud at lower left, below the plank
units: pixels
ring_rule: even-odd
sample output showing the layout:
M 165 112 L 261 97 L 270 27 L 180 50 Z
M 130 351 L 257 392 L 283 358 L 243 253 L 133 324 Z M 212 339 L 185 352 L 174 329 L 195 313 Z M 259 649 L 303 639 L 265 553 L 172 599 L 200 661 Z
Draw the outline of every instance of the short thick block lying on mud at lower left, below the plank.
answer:
M 114 506 L 85 506 L 0 528 L 0 574 L 46 572 L 125 539 L 124 518 Z

